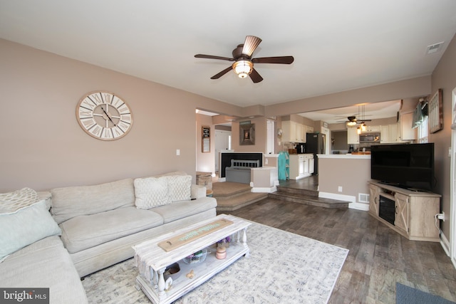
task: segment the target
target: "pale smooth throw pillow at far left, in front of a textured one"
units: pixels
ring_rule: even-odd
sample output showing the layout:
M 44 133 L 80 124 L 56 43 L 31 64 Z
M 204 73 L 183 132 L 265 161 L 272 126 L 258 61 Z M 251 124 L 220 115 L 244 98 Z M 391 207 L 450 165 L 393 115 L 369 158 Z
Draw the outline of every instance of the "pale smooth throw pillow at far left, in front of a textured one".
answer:
M 11 214 L 0 214 L 0 231 L 0 262 L 31 243 L 61 235 L 44 200 Z

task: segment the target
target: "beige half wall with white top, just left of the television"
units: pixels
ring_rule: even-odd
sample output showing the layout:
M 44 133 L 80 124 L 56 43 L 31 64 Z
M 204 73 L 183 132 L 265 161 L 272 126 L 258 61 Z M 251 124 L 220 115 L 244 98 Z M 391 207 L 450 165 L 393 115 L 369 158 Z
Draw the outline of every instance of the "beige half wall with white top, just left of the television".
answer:
M 349 208 L 369 209 L 371 154 L 317 154 L 318 196 L 351 201 Z

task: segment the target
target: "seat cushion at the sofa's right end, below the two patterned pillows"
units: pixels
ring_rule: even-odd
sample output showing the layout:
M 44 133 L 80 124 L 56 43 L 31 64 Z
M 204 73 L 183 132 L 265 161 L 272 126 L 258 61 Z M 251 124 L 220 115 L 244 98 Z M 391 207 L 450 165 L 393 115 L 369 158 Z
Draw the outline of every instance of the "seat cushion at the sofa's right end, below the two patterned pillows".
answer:
M 176 201 L 175 203 L 154 208 L 154 212 L 160 214 L 165 224 L 187 216 L 199 214 L 217 207 L 217 199 L 213 197 L 202 197 L 193 201 Z

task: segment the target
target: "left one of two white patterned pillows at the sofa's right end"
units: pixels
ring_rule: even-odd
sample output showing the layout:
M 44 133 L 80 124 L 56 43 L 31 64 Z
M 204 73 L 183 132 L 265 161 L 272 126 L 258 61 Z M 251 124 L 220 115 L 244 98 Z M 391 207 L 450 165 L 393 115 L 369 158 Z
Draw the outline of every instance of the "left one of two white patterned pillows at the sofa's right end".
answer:
M 135 205 L 138 209 L 150 209 L 170 204 L 167 177 L 135 179 Z

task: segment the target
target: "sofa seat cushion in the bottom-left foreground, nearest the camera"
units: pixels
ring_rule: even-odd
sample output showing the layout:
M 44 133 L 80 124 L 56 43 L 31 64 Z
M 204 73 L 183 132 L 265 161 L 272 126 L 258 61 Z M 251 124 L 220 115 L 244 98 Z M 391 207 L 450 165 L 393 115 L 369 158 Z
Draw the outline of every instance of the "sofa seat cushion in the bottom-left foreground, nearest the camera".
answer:
M 48 303 L 87 303 L 81 279 L 58 236 L 11 254 L 0 263 L 0 273 L 1 288 L 49 288 Z

